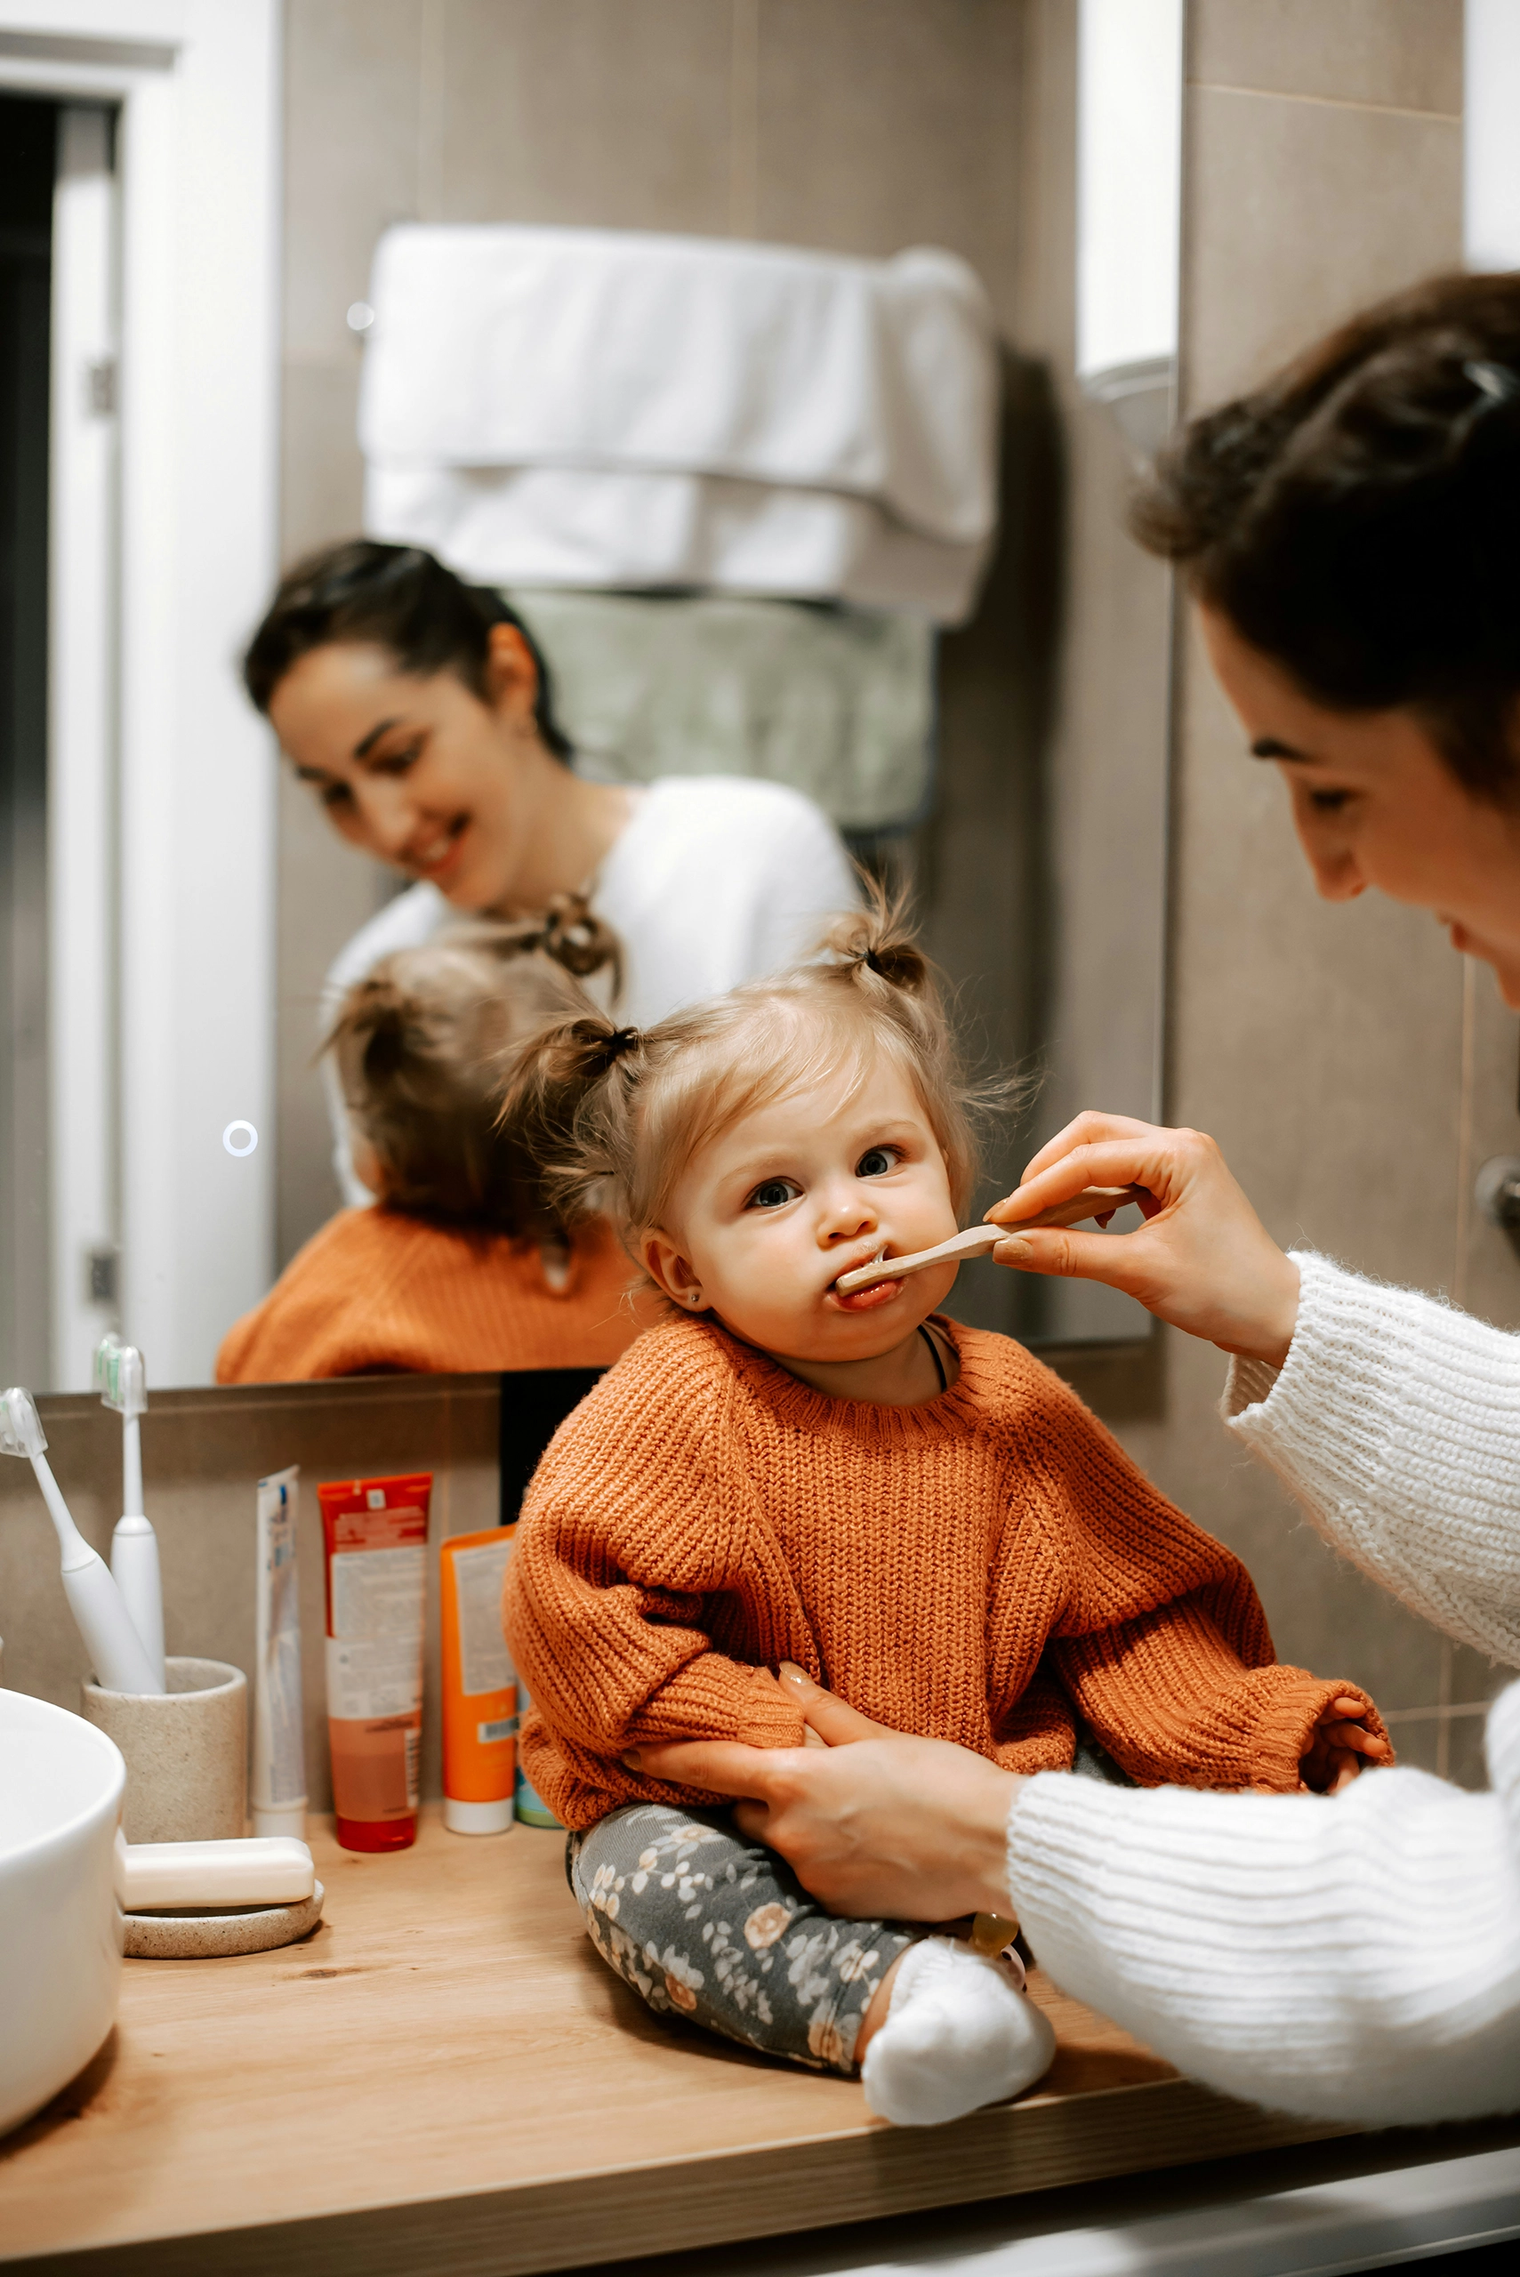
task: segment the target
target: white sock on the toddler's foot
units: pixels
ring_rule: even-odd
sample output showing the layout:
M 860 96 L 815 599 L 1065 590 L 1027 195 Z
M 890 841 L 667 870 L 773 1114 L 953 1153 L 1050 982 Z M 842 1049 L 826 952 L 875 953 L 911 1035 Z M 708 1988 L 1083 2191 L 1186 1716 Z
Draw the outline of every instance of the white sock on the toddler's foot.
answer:
M 1006 1963 L 924 1938 L 897 1965 L 860 2083 L 876 2118 L 940 2127 L 1033 2086 L 1054 2054 L 1056 2033 Z

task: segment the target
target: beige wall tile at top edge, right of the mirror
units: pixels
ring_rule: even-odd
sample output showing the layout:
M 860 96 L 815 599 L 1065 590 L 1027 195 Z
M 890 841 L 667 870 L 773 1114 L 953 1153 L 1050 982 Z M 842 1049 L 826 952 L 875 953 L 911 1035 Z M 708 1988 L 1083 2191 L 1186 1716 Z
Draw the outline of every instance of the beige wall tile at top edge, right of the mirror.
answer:
M 1192 0 L 1188 73 L 1454 116 L 1461 39 L 1463 0 Z

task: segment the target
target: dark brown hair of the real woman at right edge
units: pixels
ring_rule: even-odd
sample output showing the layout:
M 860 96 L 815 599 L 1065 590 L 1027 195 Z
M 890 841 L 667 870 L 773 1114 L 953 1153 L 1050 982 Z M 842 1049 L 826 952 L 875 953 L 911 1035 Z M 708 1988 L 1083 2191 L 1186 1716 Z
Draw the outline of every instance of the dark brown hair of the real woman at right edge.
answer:
M 1140 542 L 1331 710 L 1409 708 L 1520 795 L 1520 276 L 1440 276 L 1192 419 Z

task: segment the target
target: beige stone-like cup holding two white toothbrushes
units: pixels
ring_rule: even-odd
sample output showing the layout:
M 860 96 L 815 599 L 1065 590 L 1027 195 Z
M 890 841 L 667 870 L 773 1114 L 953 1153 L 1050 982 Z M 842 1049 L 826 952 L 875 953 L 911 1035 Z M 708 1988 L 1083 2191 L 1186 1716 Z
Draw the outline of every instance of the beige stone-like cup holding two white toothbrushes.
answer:
M 248 1678 L 225 1660 L 168 1658 L 166 1692 L 80 1685 L 82 1715 L 127 1765 L 127 1842 L 225 1842 L 248 1815 Z

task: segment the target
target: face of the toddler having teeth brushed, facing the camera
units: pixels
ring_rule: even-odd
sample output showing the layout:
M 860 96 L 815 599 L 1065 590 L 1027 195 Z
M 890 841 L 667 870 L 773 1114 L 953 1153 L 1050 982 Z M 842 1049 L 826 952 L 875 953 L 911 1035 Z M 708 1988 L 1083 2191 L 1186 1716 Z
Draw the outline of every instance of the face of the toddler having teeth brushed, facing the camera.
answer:
M 876 1359 L 949 1293 L 956 1266 L 840 1296 L 840 1273 L 956 1232 L 944 1157 L 917 1091 L 881 1054 L 746 1116 L 694 1157 L 644 1264 L 683 1312 L 790 1359 Z

